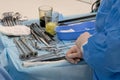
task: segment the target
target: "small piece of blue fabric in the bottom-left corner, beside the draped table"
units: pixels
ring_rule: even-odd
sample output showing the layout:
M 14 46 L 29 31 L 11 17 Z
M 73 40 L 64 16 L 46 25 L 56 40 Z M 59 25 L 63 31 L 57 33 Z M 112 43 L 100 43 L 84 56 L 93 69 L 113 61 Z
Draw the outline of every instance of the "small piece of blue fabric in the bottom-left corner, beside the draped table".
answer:
M 0 65 L 0 80 L 12 80 L 8 72 Z

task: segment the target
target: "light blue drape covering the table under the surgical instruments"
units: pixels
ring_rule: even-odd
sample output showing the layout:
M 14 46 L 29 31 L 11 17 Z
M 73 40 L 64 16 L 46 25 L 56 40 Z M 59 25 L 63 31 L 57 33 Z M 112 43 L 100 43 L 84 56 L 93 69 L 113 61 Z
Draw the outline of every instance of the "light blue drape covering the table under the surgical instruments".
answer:
M 23 66 L 19 59 L 19 52 L 13 43 L 12 38 L 1 35 L 4 50 L 0 55 L 0 61 L 9 72 L 13 80 L 92 80 L 92 71 L 86 62 L 71 64 L 66 60 L 50 63 L 42 63 L 34 66 Z M 74 45 L 73 41 L 63 41 L 59 45 Z M 64 50 L 65 52 L 67 49 Z M 63 53 L 65 53 L 63 51 Z M 40 51 L 45 53 L 44 51 Z

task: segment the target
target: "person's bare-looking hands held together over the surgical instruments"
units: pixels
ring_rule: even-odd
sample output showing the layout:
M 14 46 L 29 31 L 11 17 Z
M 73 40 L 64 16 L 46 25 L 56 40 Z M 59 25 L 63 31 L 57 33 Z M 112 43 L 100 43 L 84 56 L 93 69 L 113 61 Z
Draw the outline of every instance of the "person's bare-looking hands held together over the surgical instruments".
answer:
M 80 35 L 80 37 L 76 40 L 75 46 L 70 48 L 66 53 L 66 59 L 74 64 L 77 64 L 80 61 L 80 58 L 82 58 L 82 45 L 87 42 L 88 38 L 90 37 L 90 34 L 88 32 L 85 32 Z

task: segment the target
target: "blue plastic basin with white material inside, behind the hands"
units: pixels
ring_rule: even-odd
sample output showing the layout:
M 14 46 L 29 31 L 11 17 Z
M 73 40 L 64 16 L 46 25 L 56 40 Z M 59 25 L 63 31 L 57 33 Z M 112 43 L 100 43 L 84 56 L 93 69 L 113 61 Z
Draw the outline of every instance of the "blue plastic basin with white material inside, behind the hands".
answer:
M 95 33 L 95 22 L 82 22 L 79 24 L 71 24 L 65 26 L 58 26 L 55 29 L 56 35 L 59 40 L 76 40 L 80 34 L 89 32 Z

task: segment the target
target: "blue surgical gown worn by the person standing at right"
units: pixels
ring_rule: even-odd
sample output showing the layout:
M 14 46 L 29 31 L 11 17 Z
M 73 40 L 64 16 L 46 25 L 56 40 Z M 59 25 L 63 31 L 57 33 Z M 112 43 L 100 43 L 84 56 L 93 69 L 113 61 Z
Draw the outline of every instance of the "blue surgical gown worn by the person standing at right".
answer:
M 102 0 L 96 18 L 97 33 L 83 47 L 83 57 L 94 80 L 120 80 L 120 0 Z

